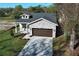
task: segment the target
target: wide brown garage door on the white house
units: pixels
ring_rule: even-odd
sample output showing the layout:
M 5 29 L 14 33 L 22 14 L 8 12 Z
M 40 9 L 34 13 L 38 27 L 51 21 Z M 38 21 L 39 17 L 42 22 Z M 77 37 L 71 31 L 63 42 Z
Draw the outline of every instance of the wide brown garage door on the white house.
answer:
M 33 36 L 45 36 L 45 37 L 52 37 L 52 29 L 32 29 Z

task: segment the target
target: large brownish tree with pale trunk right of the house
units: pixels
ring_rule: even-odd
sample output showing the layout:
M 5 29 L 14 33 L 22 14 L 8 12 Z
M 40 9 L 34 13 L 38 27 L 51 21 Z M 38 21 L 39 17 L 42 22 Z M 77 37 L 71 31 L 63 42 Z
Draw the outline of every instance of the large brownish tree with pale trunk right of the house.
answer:
M 72 55 L 74 55 L 74 45 L 75 42 L 78 41 L 76 38 L 75 31 L 76 25 L 79 24 L 79 4 L 56 4 L 58 8 L 59 18 L 61 18 L 61 26 L 63 28 L 64 34 L 70 36 L 69 48 L 72 51 Z M 79 35 L 78 35 L 79 36 Z

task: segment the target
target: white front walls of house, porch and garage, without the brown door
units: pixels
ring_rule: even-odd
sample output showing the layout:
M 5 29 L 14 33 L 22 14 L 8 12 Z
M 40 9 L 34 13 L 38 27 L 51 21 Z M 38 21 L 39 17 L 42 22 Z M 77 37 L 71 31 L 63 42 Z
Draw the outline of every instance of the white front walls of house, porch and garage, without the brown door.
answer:
M 27 27 L 28 25 L 26 25 Z M 29 33 L 30 35 L 32 35 L 32 28 L 44 28 L 44 29 L 52 29 L 52 37 L 55 38 L 56 37 L 56 24 L 52 23 L 48 20 L 41 20 L 39 22 L 36 22 L 34 24 L 29 25 L 29 28 L 26 28 L 26 30 L 24 30 L 24 28 L 22 27 L 22 23 L 19 23 L 19 29 L 21 33 Z

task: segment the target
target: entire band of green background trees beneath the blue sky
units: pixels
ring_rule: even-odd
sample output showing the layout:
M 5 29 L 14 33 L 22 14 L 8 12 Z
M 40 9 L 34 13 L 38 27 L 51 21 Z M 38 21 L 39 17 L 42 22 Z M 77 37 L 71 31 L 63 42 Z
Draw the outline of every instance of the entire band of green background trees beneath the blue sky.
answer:
M 34 13 L 40 13 L 40 12 L 45 12 L 45 13 L 56 13 L 56 6 L 51 4 L 47 7 L 45 6 L 30 6 L 28 8 L 23 8 L 22 5 L 16 5 L 15 8 L 0 8 L 0 17 L 3 16 L 12 16 L 13 18 L 19 18 L 19 16 L 24 12 L 34 12 Z

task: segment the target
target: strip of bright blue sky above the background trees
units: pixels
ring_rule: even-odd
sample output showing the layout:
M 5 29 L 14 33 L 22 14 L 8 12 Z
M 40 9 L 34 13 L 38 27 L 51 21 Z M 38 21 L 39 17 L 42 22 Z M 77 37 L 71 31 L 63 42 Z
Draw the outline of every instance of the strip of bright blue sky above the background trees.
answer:
M 16 5 L 22 5 L 23 8 L 28 8 L 30 6 L 48 6 L 51 5 L 51 3 L 0 3 L 0 8 L 14 8 Z

